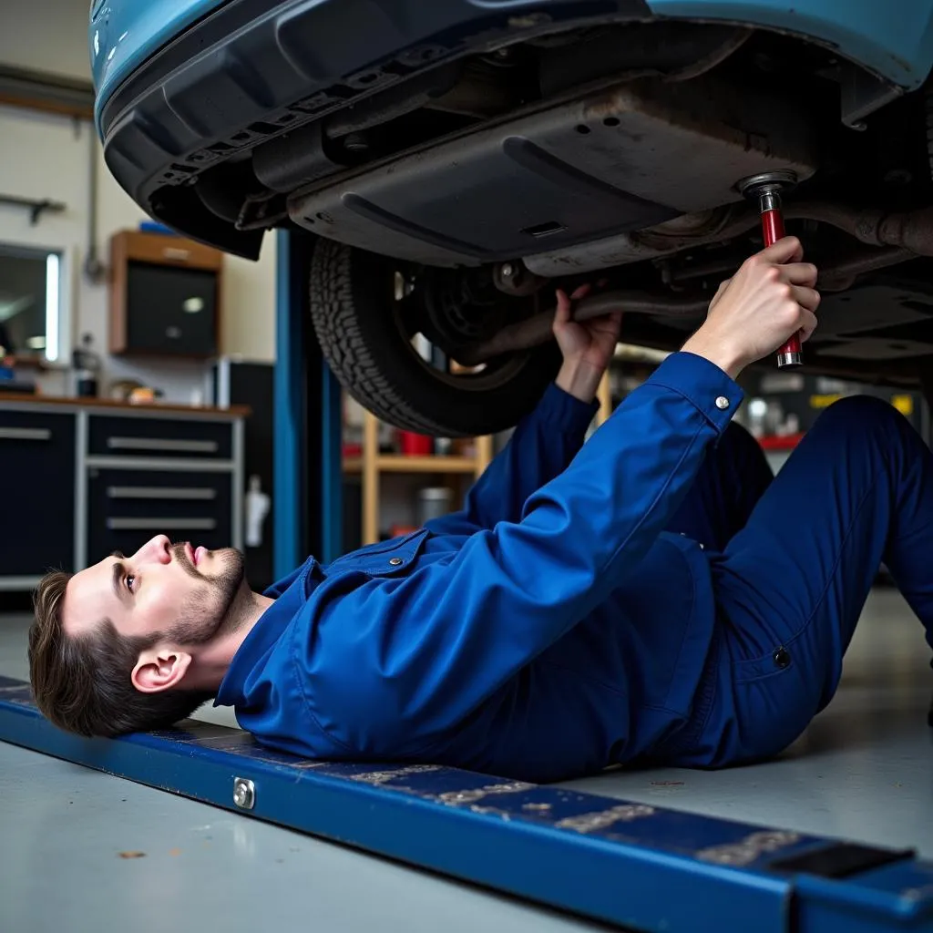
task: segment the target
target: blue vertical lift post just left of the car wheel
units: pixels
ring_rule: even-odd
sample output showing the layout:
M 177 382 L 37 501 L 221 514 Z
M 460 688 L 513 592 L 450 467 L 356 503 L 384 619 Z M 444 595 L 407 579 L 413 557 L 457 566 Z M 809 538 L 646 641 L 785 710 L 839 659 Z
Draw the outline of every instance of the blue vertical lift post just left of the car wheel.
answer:
M 341 387 L 314 337 L 308 308 L 313 237 L 276 234 L 275 578 L 309 554 L 340 556 Z

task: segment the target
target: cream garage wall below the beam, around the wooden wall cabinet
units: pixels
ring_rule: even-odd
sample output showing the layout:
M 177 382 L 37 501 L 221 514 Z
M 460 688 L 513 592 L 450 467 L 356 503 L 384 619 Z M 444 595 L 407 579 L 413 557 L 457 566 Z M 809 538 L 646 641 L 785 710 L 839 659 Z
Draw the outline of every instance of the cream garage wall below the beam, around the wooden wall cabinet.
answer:
M 43 215 L 33 226 L 29 213 L 0 205 L 0 241 L 63 249 L 70 259 L 72 336 L 93 337 L 101 353 L 107 345 L 106 284 L 93 284 L 83 274 L 88 255 L 89 161 L 91 126 L 71 118 L 0 107 L 0 194 L 63 202 L 60 215 Z M 111 235 L 138 227 L 145 214 L 130 200 L 104 166 L 101 147 L 94 143 L 98 160 L 98 251 L 105 262 Z M 221 308 L 221 351 L 249 359 L 272 361 L 275 357 L 275 241 L 266 238 L 256 263 L 225 257 L 226 285 Z M 104 383 L 134 378 L 161 388 L 168 400 L 189 401 L 202 387 L 205 367 L 197 363 L 125 363 L 105 361 Z M 70 394 L 68 374 L 43 377 L 42 388 L 50 394 Z M 105 384 L 102 385 L 105 390 Z

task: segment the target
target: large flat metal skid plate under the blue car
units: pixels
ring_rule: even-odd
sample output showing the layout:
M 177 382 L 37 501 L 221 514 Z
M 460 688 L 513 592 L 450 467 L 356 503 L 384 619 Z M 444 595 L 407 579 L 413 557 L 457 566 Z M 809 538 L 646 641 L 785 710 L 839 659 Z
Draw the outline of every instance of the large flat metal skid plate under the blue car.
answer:
M 529 109 L 299 191 L 289 214 L 362 249 L 479 265 L 741 202 L 739 178 L 816 164 L 792 107 L 710 77 Z

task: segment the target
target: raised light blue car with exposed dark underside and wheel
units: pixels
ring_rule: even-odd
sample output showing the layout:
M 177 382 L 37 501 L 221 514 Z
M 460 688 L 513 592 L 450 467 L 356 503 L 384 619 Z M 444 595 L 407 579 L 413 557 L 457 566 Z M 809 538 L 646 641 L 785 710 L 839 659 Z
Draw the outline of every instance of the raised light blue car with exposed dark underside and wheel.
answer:
M 147 214 L 245 258 L 306 234 L 313 283 L 397 262 L 448 358 L 596 270 L 637 299 L 628 339 L 675 349 L 760 242 L 743 180 L 785 172 L 828 270 L 819 371 L 928 372 L 933 0 L 95 0 L 89 42 L 104 159 Z M 547 347 L 428 378 L 412 334 L 372 323 L 386 294 L 341 299 L 333 329 L 312 299 L 371 411 L 448 437 L 530 411 Z

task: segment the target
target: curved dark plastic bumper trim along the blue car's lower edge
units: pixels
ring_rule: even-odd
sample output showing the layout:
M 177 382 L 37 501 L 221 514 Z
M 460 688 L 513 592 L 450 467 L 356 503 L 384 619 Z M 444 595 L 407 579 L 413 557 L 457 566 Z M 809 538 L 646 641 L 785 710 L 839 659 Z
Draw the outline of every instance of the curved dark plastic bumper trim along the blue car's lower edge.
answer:
M 230 0 L 113 92 L 100 118 L 104 156 L 150 216 L 258 258 L 261 236 L 219 218 L 208 231 L 209 212 L 188 210 L 201 202 L 186 186 L 203 170 L 506 35 L 650 16 L 645 0 Z

